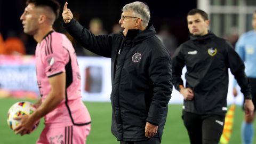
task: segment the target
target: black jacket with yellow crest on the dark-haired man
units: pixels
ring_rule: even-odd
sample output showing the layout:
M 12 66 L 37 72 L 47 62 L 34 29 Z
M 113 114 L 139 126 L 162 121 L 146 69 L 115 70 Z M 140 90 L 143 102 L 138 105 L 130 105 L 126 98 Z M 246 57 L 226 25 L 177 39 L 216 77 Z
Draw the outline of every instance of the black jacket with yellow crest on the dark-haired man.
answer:
M 194 99 L 184 100 L 183 110 L 196 114 L 225 114 L 227 111 L 228 68 L 237 79 L 241 92 L 251 99 L 244 62 L 225 39 L 211 31 L 205 36 L 190 36 L 173 58 L 173 85 L 183 85 L 182 68 L 186 66 L 186 87 L 193 89 Z

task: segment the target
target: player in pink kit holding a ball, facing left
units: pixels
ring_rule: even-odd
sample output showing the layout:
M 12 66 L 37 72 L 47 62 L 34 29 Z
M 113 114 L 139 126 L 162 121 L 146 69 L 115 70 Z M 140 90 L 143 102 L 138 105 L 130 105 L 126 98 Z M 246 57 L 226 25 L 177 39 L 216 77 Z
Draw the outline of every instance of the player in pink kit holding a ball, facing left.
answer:
M 85 143 L 91 117 L 81 100 L 81 77 L 75 50 L 68 38 L 53 30 L 60 4 L 55 0 L 28 0 L 20 17 L 24 32 L 36 46 L 37 84 L 41 99 L 31 115 L 18 117 L 16 134 L 29 134 L 44 117 L 45 127 L 37 143 Z

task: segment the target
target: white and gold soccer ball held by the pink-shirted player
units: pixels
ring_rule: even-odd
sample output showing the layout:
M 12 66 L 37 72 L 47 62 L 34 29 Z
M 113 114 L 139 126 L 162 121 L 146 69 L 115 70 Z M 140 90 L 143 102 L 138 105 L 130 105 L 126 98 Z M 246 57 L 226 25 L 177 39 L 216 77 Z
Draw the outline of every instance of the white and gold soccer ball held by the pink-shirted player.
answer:
M 8 110 L 7 113 L 7 124 L 9 127 L 14 130 L 17 125 L 19 125 L 19 121 L 15 120 L 13 118 L 21 115 L 29 115 L 32 114 L 36 110 L 36 107 L 33 103 L 28 101 L 20 101 L 14 103 L 14 105 L 11 106 L 11 108 Z M 36 127 L 39 125 L 39 120 L 36 122 L 36 124 L 31 129 L 31 132 L 36 129 Z

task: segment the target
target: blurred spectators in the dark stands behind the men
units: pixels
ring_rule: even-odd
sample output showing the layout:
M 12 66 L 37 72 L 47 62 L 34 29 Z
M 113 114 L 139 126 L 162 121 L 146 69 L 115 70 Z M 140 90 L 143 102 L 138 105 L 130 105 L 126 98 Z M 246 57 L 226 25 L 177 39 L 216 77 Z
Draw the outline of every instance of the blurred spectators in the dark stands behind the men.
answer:
M 75 18 L 79 20 L 79 15 L 75 15 Z M 107 31 L 104 29 L 103 21 L 99 18 L 93 18 L 89 22 L 89 29 L 94 35 L 102 34 L 114 34 L 120 33 L 122 31 L 121 26 L 116 23 L 113 25 L 112 31 Z M 156 31 L 157 37 L 163 42 L 170 55 L 172 56 L 175 49 L 179 46 L 178 39 L 172 34 L 169 25 L 163 24 Z M 79 56 L 91 56 L 97 57 L 97 54 L 94 54 L 86 49 L 83 49 L 73 37 L 68 33 L 65 33 L 70 41 L 73 43 L 76 53 Z M 233 46 L 235 46 L 237 39 L 239 37 L 238 30 L 236 27 L 230 29 L 230 32 L 222 36 L 227 39 Z M 5 55 L 34 55 L 36 43 L 33 42 L 34 39 L 31 36 L 26 34 L 17 35 L 15 31 L 10 30 L 7 34 L 7 37 L 4 39 L 0 31 L 0 54 Z

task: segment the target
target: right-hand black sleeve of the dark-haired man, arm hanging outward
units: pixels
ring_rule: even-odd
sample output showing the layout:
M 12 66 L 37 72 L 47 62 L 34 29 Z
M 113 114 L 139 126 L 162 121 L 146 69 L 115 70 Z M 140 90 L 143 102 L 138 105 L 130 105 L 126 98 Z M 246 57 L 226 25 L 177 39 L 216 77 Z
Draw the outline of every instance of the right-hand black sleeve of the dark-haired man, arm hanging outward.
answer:
M 244 94 L 245 99 L 252 99 L 251 86 L 249 79 L 245 74 L 245 66 L 243 60 L 239 57 L 233 46 L 226 42 L 227 47 L 227 65 L 230 68 L 231 73 L 235 76 L 238 85 L 241 87 L 241 92 Z

